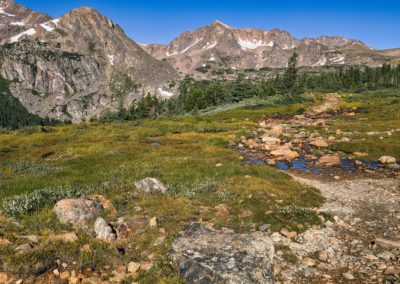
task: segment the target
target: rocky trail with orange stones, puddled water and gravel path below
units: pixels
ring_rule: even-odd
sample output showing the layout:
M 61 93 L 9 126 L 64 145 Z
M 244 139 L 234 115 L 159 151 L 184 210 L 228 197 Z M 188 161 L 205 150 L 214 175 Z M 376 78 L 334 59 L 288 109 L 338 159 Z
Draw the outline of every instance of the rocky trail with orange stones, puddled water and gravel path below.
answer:
M 267 163 L 320 190 L 319 212 L 331 216 L 323 227 L 303 234 L 273 233 L 274 274 L 278 283 L 398 283 L 400 281 L 400 180 L 392 157 L 380 163 L 354 160 L 325 149 L 325 140 L 309 126 L 326 127 L 339 113 L 339 95 L 293 118 L 263 119 L 255 139 L 242 139 L 239 150 L 249 164 Z M 342 113 L 354 115 L 355 109 Z M 337 131 L 340 133 L 340 130 Z M 347 138 L 345 138 L 347 139 Z M 328 218 L 328 217 L 327 217 Z M 293 253 L 292 261 L 285 250 Z M 297 260 L 297 261 L 296 261 Z

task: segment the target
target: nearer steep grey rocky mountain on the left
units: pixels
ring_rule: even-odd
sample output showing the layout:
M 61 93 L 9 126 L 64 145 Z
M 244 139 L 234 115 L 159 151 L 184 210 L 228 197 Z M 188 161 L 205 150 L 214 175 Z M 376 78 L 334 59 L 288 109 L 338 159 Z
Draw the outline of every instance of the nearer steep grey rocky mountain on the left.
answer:
M 73 121 L 128 106 L 145 92 L 166 94 L 164 85 L 178 78 L 91 8 L 3 39 L 0 75 L 29 111 Z

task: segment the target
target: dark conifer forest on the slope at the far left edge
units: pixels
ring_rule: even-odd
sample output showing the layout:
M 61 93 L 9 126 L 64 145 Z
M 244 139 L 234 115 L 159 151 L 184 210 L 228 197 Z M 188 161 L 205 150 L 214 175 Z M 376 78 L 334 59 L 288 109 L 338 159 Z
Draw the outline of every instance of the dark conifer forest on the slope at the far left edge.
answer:
M 57 120 L 31 114 L 10 94 L 9 82 L 0 76 L 0 128 L 18 129 L 33 125 L 55 125 Z

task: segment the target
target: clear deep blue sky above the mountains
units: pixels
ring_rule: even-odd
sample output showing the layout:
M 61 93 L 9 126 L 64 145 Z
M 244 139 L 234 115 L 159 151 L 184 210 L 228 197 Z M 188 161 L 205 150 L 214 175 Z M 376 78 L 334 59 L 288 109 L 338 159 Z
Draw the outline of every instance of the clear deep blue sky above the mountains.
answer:
M 218 19 L 234 27 L 280 28 L 296 38 L 342 35 L 377 49 L 400 47 L 400 0 L 17 0 L 58 17 L 90 6 L 140 43 L 167 43 Z

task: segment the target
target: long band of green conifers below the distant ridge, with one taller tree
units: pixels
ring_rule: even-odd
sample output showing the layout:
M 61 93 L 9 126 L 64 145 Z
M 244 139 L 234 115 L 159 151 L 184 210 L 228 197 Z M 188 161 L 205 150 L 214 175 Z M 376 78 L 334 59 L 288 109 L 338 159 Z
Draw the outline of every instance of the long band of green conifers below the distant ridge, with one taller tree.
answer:
M 306 91 L 362 92 L 400 86 L 400 65 L 393 67 L 342 66 L 330 71 L 310 73 L 300 71 L 297 54 L 290 58 L 283 74 L 269 80 L 254 81 L 239 76 L 234 81 L 202 80 L 186 77 L 179 86 L 178 95 L 169 100 L 159 100 L 148 94 L 128 110 L 107 112 L 100 121 L 156 118 L 187 113 L 197 113 L 210 107 L 240 102 L 248 98 L 282 96 L 283 103 L 302 100 Z

